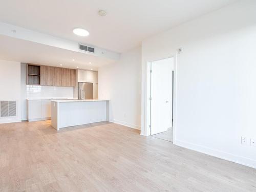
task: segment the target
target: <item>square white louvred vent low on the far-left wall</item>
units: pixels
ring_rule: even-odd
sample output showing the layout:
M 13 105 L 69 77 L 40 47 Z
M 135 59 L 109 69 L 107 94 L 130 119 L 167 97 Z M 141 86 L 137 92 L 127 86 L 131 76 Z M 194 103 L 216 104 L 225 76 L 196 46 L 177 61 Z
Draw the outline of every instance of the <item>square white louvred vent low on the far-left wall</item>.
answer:
M 0 117 L 16 116 L 16 101 L 0 101 Z

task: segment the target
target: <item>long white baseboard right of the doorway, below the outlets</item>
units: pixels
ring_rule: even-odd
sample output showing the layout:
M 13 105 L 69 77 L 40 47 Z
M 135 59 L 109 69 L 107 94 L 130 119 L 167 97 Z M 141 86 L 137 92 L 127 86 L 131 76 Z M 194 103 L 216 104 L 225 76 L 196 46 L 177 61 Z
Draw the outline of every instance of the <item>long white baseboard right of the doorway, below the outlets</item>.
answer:
M 185 141 L 180 141 L 180 140 L 176 140 L 175 144 L 178 146 L 181 146 L 181 147 L 188 148 L 189 150 L 194 150 L 194 151 L 201 152 L 201 153 L 204 153 L 204 154 L 207 154 L 210 156 L 225 159 L 227 161 L 232 161 L 234 163 L 239 163 L 239 164 L 242 164 L 245 166 L 256 168 L 256 161 L 253 159 L 248 159 L 245 157 L 229 154 L 226 152 L 214 150 L 212 148 L 208 148 L 208 147 L 204 147 L 201 145 L 197 145 L 197 144 L 193 144 L 193 143 L 189 143 L 189 142 L 185 142 Z

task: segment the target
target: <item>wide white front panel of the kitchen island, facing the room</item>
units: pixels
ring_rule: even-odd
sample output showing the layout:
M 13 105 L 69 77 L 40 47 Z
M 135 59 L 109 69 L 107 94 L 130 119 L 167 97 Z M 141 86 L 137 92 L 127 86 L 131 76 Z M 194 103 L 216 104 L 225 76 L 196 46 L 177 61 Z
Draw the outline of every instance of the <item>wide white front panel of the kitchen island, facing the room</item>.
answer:
M 58 128 L 106 121 L 106 102 L 59 102 Z

